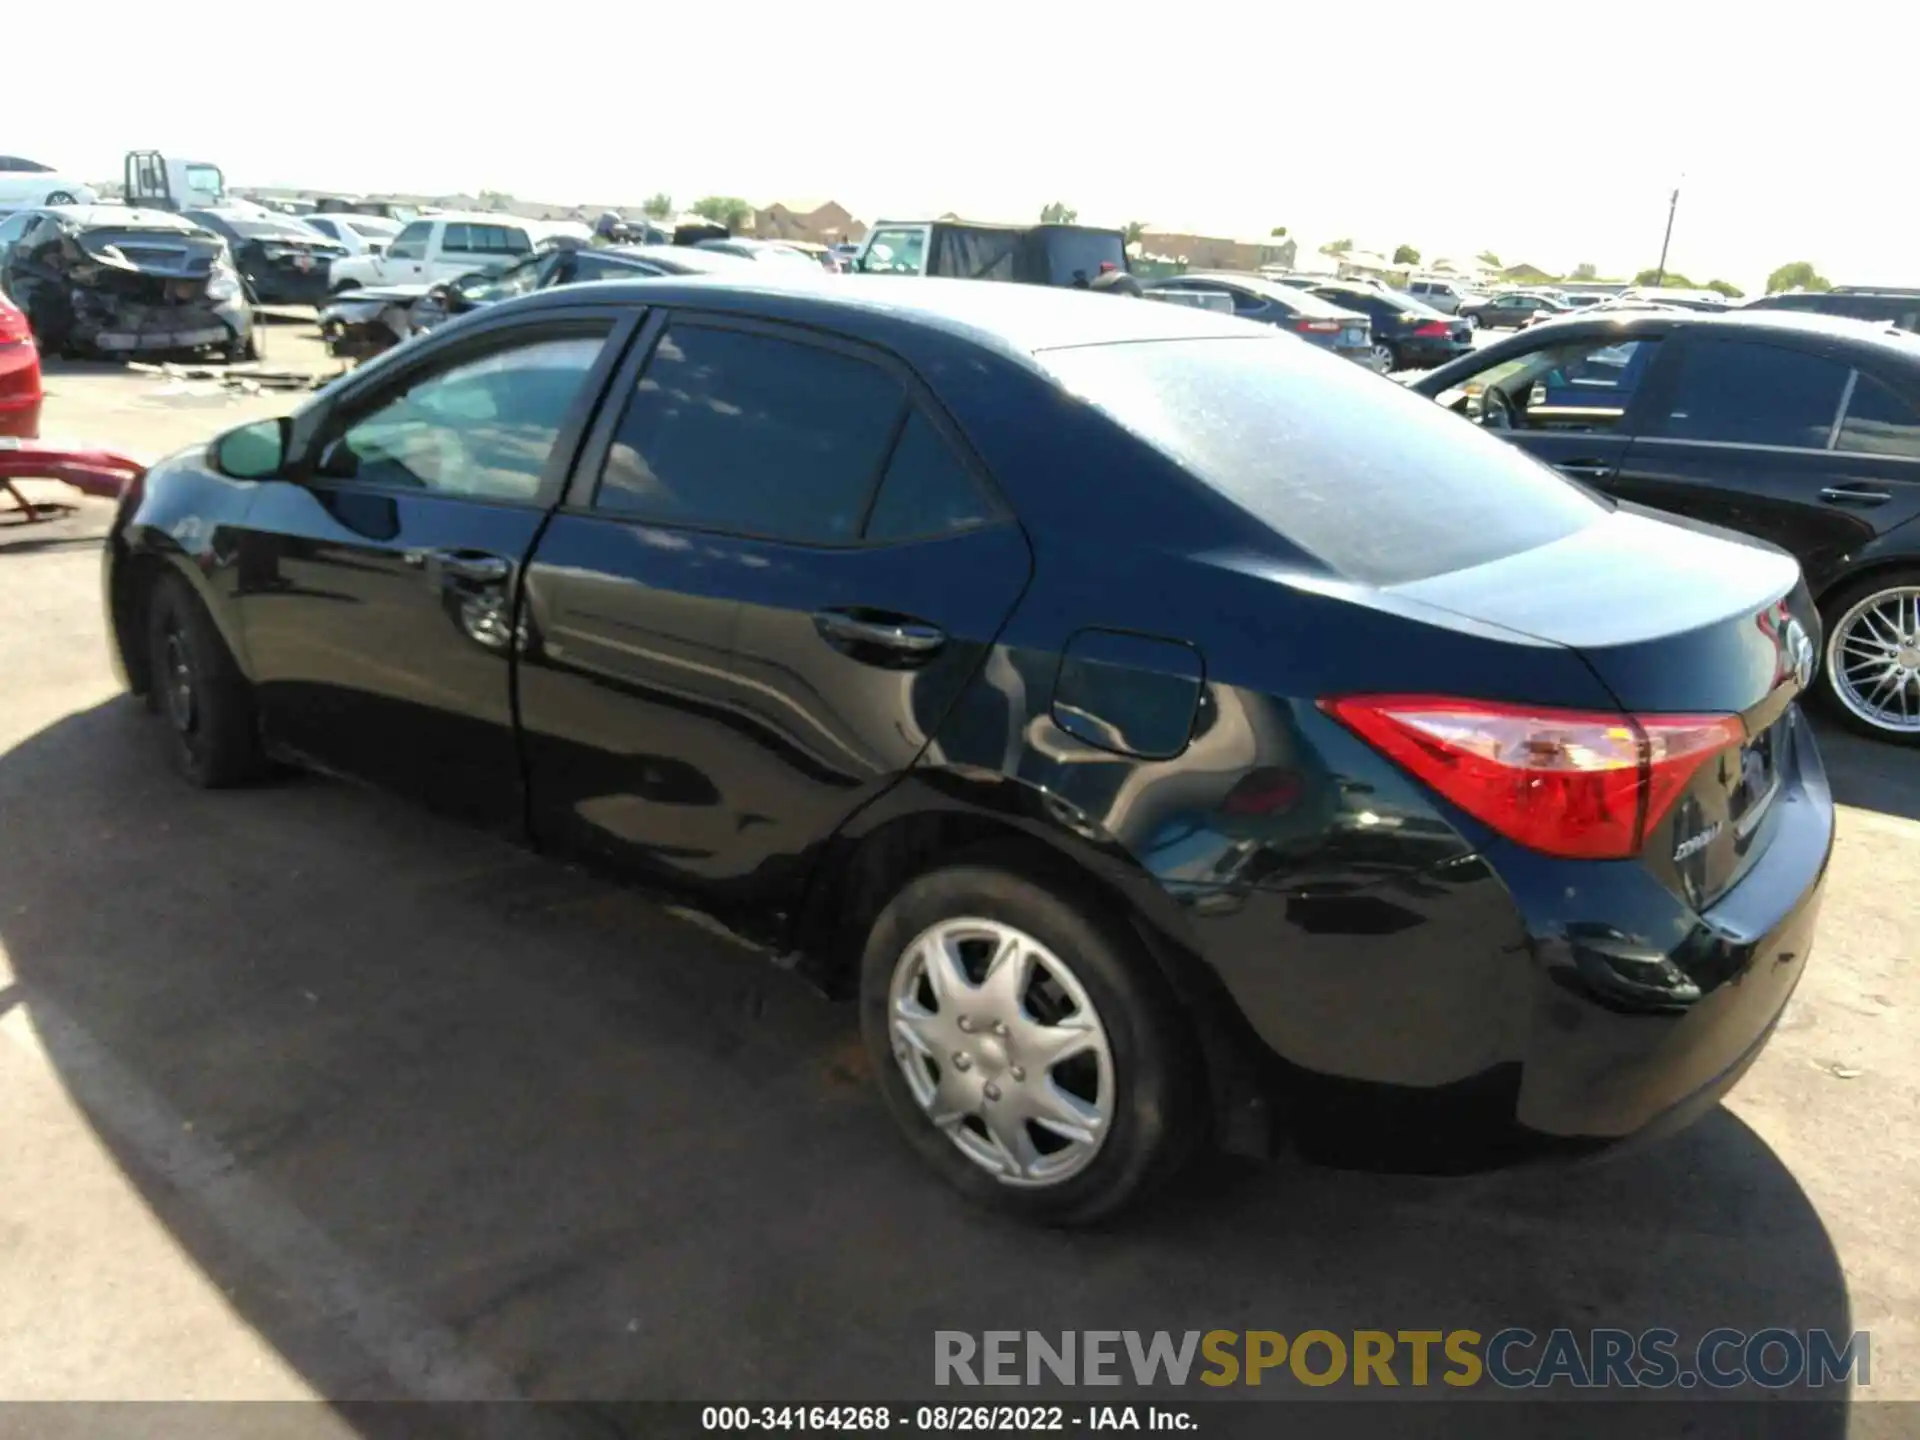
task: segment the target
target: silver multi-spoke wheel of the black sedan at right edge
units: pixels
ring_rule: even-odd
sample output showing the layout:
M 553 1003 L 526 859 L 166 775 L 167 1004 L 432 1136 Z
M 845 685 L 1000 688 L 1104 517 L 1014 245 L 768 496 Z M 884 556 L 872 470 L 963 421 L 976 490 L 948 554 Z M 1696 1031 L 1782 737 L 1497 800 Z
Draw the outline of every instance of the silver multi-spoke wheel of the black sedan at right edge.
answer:
M 1862 580 L 1822 611 L 1820 699 L 1853 732 L 1920 745 L 1920 570 Z

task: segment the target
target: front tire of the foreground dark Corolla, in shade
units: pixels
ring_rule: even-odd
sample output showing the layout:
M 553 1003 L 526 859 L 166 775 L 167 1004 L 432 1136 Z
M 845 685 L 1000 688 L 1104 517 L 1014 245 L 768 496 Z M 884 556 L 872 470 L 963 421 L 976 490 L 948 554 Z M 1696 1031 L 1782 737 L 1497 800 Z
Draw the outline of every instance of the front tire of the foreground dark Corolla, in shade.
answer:
M 213 616 L 177 574 L 146 611 L 148 701 L 167 724 L 167 758 L 200 789 L 246 785 L 267 770 L 253 689 Z

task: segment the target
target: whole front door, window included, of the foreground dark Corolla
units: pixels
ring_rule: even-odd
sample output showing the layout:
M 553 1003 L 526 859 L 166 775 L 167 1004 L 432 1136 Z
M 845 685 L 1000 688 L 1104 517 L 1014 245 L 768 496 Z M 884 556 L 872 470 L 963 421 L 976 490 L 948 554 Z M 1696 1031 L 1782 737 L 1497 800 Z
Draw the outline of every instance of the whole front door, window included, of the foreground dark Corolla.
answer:
M 303 417 L 232 553 L 271 741 L 520 828 L 513 607 L 622 326 L 609 309 L 482 324 Z

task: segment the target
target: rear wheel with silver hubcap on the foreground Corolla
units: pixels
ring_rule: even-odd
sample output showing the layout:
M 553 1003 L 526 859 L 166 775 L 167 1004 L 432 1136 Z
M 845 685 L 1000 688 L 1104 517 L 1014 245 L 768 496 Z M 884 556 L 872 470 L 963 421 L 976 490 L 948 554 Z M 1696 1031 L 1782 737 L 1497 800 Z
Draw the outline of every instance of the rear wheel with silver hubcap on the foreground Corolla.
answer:
M 908 1144 L 972 1200 L 1091 1225 L 1188 1156 L 1196 1066 L 1140 943 L 998 864 L 910 881 L 860 966 L 860 1033 Z

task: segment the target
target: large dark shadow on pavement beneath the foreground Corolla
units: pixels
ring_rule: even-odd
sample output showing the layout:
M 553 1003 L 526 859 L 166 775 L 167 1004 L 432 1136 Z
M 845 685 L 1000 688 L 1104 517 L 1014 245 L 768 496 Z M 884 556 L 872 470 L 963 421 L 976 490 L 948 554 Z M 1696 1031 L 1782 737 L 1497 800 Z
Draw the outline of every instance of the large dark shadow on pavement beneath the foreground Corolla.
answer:
M 925 1400 L 935 1331 L 1851 1329 L 1818 1213 L 1726 1110 L 1471 1181 L 1217 1162 L 1031 1231 L 895 1140 L 851 1008 L 628 891 L 342 783 L 190 791 L 125 699 L 0 756 L 0 816 L 31 816 L 0 939 L 38 1048 L 332 1400 Z

